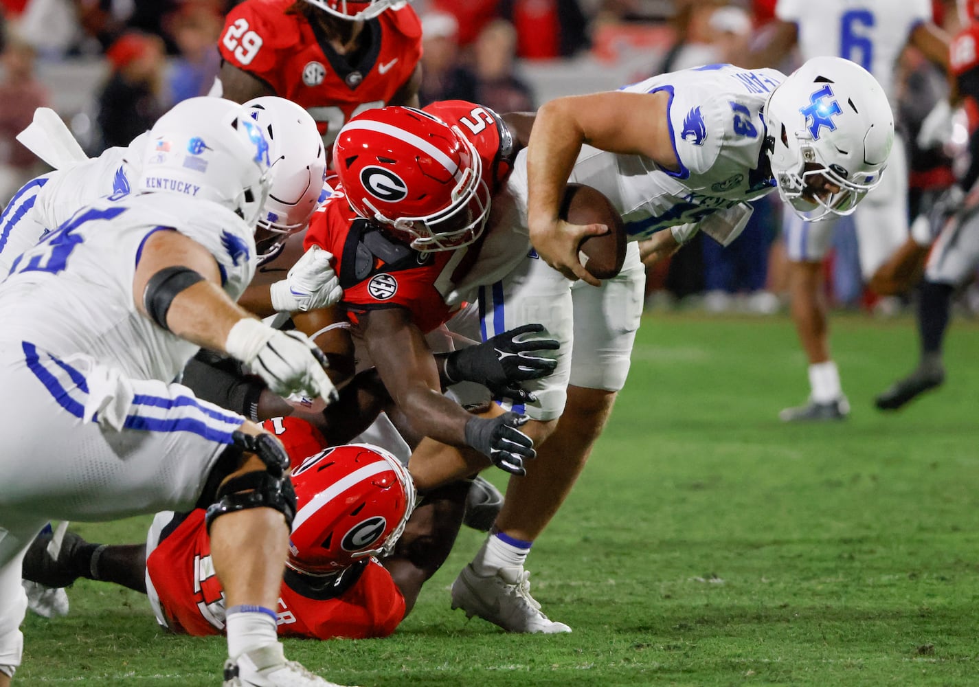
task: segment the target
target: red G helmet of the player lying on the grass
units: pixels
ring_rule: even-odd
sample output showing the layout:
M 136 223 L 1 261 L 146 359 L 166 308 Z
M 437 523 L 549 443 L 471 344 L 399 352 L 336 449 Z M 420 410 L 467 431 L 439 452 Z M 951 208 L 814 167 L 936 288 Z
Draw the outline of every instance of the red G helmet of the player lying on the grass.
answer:
M 327 448 L 293 470 L 292 481 L 297 511 L 286 565 L 306 574 L 390 552 L 415 506 L 408 471 L 378 446 Z

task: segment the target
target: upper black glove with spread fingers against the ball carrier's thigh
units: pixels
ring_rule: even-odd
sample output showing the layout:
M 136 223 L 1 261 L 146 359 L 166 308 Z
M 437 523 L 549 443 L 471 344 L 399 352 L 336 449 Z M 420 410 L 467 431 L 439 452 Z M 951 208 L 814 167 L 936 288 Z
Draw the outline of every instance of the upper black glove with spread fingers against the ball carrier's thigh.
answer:
M 521 388 L 520 382 L 552 373 L 557 360 L 542 357 L 539 352 L 557 350 L 559 343 L 553 339 L 522 340 L 521 337 L 543 330 L 543 325 L 524 325 L 453 351 L 445 360 L 445 373 L 456 382 L 482 384 L 496 398 L 512 398 L 520 403 L 536 400 L 533 393 Z

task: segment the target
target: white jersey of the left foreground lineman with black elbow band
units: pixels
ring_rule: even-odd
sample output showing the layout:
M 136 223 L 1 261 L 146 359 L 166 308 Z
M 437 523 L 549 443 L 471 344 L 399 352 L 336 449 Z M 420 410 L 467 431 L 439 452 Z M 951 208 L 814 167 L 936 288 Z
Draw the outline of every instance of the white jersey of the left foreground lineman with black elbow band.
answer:
M 232 210 L 174 194 L 106 199 L 14 260 L 0 282 L 0 339 L 57 357 L 85 351 L 130 378 L 171 382 L 199 346 L 141 314 L 132 280 L 147 237 L 173 229 L 208 249 L 237 300 L 255 273 L 255 238 Z

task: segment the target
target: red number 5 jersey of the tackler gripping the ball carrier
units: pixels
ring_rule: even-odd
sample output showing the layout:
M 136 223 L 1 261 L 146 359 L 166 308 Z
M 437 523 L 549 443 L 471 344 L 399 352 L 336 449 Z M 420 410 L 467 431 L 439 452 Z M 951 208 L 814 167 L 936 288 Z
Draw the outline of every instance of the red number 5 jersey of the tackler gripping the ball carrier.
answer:
M 484 180 L 495 194 L 510 173 L 514 154 L 509 129 L 499 116 L 464 101 L 433 103 L 425 112 L 457 125 L 476 146 L 483 160 Z M 313 216 L 305 249 L 317 245 L 336 256 L 350 320 L 355 324 L 366 310 L 406 307 L 423 332 L 446 322 L 457 304 L 446 304 L 445 296 L 476 261 L 483 237 L 455 251 L 412 251 L 358 217 L 342 194 L 341 186 Z

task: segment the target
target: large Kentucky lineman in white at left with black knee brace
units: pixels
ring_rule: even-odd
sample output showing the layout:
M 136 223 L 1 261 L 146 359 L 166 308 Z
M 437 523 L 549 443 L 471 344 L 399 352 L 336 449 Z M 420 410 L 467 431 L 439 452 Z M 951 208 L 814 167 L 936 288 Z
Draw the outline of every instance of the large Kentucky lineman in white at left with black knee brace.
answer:
M 330 684 L 285 660 L 270 610 L 295 508 L 281 444 L 171 383 L 207 345 L 281 393 L 336 395 L 305 337 L 234 302 L 255 272 L 268 150 L 247 109 L 184 101 L 151 130 L 138 193 L 82 207 L 0 283 L 0 380 L 18 399 L 0 419 L 0 685 L 21 662 L 21 560 L 41 527 L 195 503 L 212 504 L 219 542 L 225 684 Z

